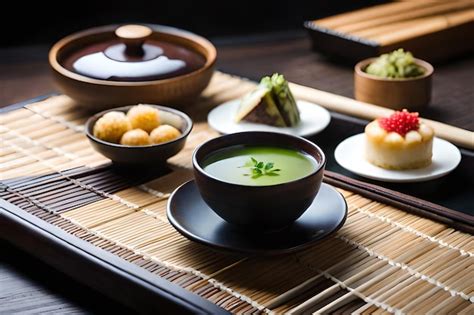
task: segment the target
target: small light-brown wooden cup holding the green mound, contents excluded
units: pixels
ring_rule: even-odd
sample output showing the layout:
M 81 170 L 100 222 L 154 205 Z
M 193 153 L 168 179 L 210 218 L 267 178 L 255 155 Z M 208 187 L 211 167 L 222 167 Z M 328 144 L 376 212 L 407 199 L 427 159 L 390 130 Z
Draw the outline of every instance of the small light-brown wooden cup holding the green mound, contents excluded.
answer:
M 385 79 L 365 72 L 375 59 L 365 59 L 354 68 L 354 93 L 357 100 L 396 110 L 406 108 L 410 111 L 420 110 L 430 103 L 432 65 L 415 59 L 415 62 L 425 69 L 423 75 L 406 79 Z

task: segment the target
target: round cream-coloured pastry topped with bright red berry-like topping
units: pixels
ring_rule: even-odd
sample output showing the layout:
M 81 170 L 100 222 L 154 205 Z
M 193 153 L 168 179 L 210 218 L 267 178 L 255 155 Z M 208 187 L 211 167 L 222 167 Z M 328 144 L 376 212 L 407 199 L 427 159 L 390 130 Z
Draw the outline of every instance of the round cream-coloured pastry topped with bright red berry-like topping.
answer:
M 431 164 L 433 129 L 406 109 L 365 127 L 367 160 L 386 169 L 415 169 Z

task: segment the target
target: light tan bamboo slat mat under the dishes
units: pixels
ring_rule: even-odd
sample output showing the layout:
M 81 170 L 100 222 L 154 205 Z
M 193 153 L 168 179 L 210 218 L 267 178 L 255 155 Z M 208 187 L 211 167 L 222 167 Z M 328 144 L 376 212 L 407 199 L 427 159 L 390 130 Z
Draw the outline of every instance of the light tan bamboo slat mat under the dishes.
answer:
M 192 178 L 193 148 L 217 134 L 207 109 L 253 84 L 216 73 L 171 171 L 120 174 L 82 133 L 89 114 L 65 96 L 0 116 L 3 198 L 234 313 L 474 312 L 474 238 L 468 233 L 340 190 L 349 205 L 333 237 L 291 255 L 216 252 L 177 233 L 169 194 Z

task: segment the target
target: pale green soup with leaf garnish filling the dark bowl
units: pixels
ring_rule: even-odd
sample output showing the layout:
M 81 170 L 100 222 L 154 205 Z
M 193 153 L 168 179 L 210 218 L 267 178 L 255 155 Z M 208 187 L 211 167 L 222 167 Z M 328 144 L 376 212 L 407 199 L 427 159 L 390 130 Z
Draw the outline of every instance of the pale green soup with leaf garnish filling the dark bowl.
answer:
M 206 173 L 222 181 L 269 186 L 294 181 L 314 172 L 318 162 L 303 152 L 263 146 L 233 146 L 210 154 Z

